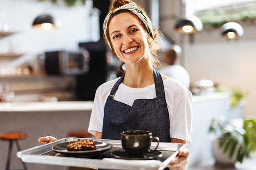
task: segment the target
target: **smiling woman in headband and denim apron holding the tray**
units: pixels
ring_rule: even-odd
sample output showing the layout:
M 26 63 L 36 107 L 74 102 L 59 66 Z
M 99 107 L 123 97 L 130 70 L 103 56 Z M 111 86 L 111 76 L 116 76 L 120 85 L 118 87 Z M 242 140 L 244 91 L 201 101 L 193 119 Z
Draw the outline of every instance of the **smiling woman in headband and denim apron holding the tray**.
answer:
M 154 69 L 158 37 L 145 12 L 132 1 L 114 1 L 103 31 L 125 74 L 98 87 L 88 131 L 95 138 L 120 139 L 124 130 L 143 129 L 162 142 L 190 143 L 191 92 Z M 169 167 L 186 169 L 187 156 L 188 150 L 180 151 Z

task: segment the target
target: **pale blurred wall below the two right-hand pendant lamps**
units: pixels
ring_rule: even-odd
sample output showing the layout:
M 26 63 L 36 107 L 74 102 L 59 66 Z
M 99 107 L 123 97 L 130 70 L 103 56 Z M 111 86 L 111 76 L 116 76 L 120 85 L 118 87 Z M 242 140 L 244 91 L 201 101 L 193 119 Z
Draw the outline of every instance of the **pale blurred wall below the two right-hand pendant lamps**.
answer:
M 254 30 L 251 30 L 253 28 Z M 207 78 L 232 90 L 242 88 L 248 92 L 245 98 L 245 115 L 256 115 L 256 29 L 244 27 L 245 34 L 239 40 L 227 41 L 219 30 L 198 33 L 195 43 L 185 45 L 185 67 L 191 82 Z M 213 40 L 211 36 L 219 37 Z

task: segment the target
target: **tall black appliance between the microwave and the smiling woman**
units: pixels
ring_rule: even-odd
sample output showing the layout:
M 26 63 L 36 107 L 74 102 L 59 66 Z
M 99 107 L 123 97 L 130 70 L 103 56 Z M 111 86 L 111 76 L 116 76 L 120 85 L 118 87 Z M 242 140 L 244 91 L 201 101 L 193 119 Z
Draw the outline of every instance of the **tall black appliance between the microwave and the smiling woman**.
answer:
M 102 83 L 109 81 L 110 77 L 120 77 L 118 61 L 108 61 L 111 50 L 100 39 L 97 42 L 79 43 L 79 47 L 90 54 L 89 71 L 76 77 L 76 96 L 80 100 L 93 101 L 96 89 Z

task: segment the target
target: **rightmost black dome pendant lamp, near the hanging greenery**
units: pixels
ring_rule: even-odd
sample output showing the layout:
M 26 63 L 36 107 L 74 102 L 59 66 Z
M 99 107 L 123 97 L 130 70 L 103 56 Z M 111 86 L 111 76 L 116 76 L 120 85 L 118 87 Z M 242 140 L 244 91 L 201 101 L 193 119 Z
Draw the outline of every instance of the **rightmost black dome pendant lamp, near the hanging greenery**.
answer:
M 227 22 L 221 27 L 221 34 L 227 39 L 237 39 L 243 36 L 244 29 L 237 22 Z

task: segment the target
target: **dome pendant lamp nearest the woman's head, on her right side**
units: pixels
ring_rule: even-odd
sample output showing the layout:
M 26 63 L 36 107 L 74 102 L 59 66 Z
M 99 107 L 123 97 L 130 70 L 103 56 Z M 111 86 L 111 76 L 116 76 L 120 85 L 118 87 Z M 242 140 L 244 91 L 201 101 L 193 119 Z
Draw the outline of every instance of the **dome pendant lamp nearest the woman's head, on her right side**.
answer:
M 183 34 L 193 34 L 202 31 L 202 29 L 203 24 L 195 15 L 182 17 L 175 25 L 175 30 Z

